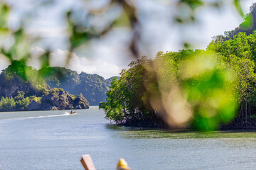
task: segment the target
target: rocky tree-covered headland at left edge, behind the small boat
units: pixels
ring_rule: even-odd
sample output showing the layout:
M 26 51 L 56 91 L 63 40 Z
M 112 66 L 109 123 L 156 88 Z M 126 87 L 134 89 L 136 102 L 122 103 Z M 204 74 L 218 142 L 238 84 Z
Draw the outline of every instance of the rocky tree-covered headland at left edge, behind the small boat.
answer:
M 82 94 L 50 89 L 36 69 L 13 61 L 0 74 L 0 111 L 42 111 L 89 108 Z

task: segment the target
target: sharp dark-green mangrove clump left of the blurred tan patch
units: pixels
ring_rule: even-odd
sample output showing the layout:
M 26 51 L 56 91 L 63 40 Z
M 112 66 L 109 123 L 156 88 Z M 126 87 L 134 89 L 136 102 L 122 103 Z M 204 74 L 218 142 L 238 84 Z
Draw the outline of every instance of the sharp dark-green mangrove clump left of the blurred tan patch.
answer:
M 154 80 L 154 75 L 147 74 L 145 69 L 150 63 L 151 60 L 144 57 L 129 64 L 130 69 L 123 69 L 120 79 L 114 77 L 110 91 L 107 91 L 107 102 L 101 106 L 105 109 L 107 118 L 117 123 L 159 121 L 159 115 L 149 104 L 149 91 L 144 86 L 144 80 Z

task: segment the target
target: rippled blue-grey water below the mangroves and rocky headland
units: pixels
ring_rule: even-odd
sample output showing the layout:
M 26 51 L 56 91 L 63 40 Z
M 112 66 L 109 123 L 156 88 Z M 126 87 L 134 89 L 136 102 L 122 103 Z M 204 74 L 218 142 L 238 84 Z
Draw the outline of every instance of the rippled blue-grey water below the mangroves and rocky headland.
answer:
M 67 111 L 0 113 L 0 169 L 97 169 L 119 158 L 141 169 L 255 169 L 255 132 L 167 132 L 109 125 L 97 106 Z

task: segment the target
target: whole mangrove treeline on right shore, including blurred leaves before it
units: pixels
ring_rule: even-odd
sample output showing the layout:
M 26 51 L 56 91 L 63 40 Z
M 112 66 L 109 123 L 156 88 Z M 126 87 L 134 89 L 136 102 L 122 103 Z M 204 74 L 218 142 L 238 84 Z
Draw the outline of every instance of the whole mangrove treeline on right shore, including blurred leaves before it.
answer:
M 124 125 L 255 128 L 255 42 L 256 31 L 238 33 L 206 50 L 132 62 L 101 104 L 106 117 Z

